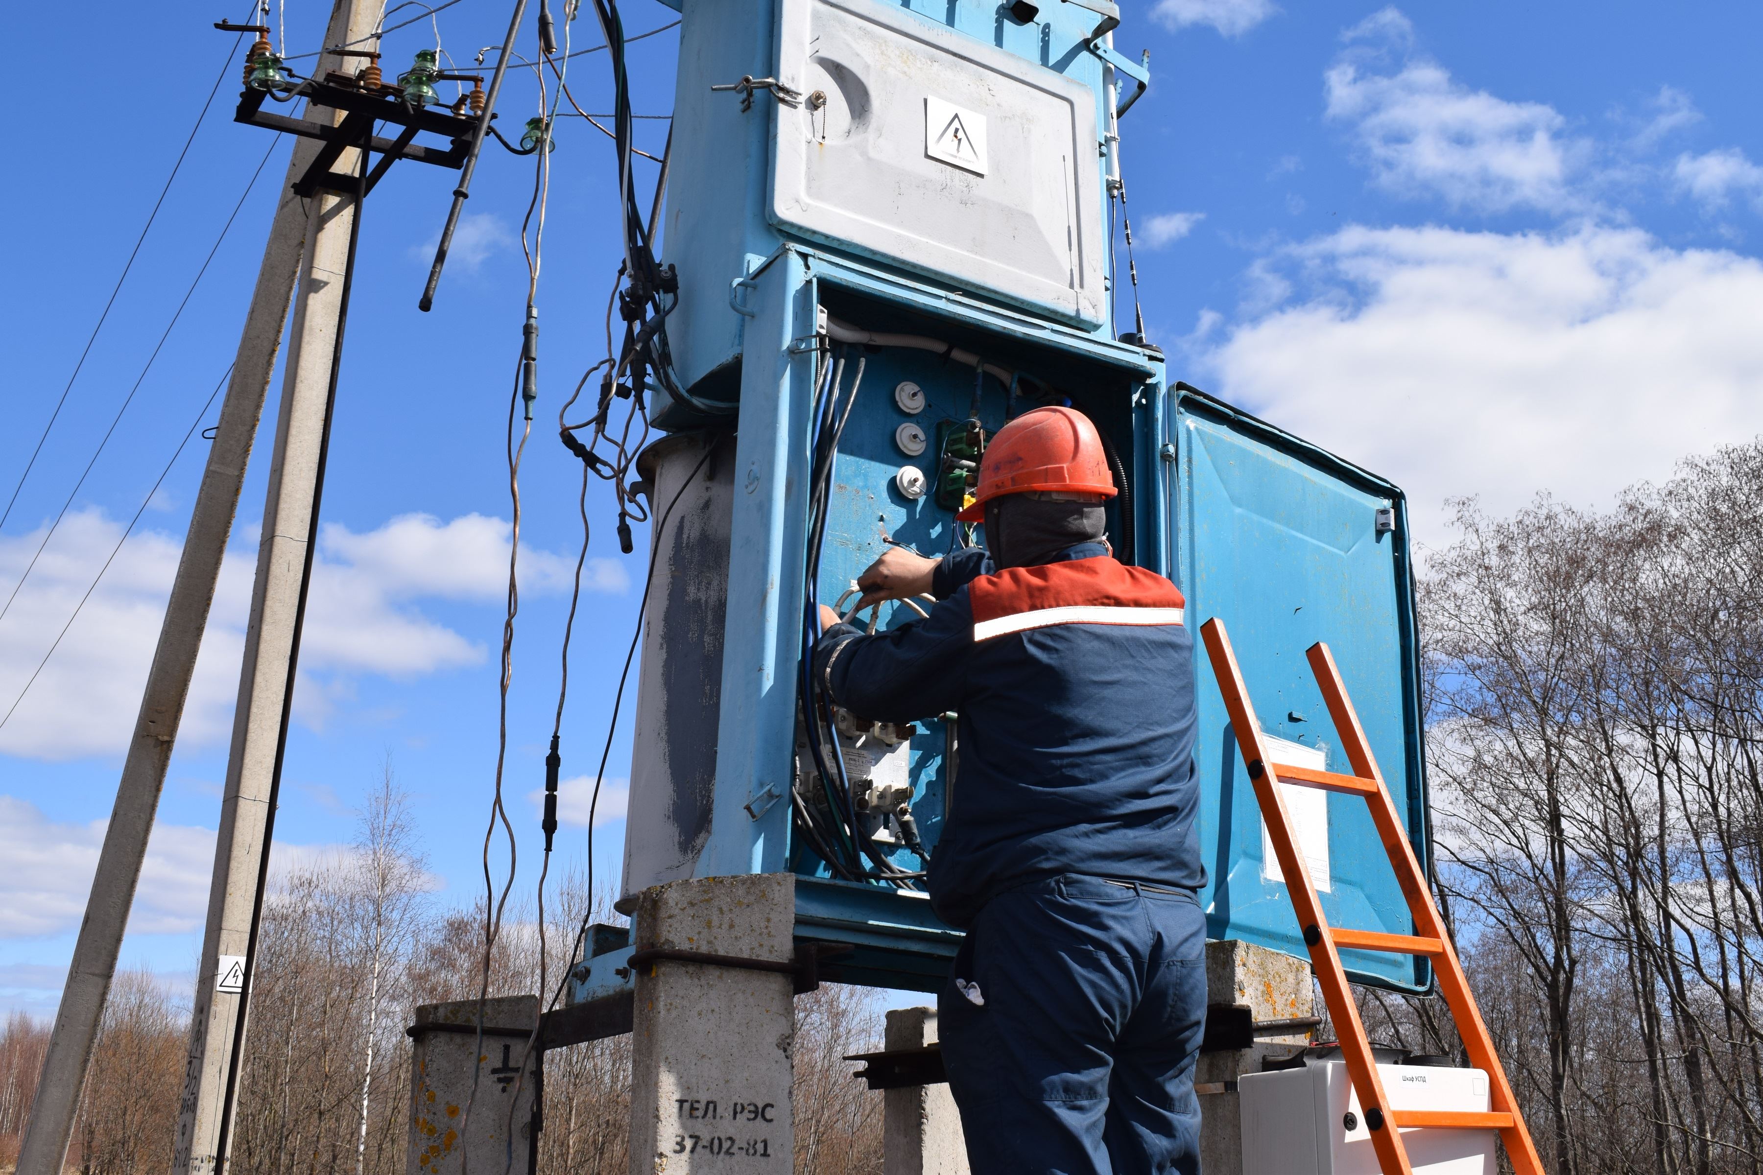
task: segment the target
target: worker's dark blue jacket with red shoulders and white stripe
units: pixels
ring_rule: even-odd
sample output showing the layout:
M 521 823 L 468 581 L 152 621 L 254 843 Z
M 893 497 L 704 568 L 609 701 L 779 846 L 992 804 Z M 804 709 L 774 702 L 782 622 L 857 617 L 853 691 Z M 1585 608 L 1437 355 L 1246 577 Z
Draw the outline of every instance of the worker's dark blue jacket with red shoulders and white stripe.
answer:
M 815 673 L 874 722 L 961 715 L 936 914 L 968 927 L 998 893 L 1060 874 L 1206 884 L 1181 590 L 1081 543 L 1000 573 L 957 551 L 933 594 L 927 620 L 827 629 Z

